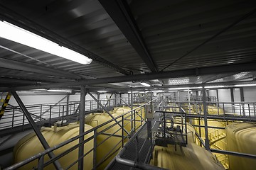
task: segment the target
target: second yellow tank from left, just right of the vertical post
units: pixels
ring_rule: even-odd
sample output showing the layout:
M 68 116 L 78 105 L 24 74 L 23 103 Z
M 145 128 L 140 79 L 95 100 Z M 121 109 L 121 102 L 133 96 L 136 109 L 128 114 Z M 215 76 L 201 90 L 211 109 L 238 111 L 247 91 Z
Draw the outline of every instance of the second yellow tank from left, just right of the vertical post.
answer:
M 107 113 L 92 113 L 85 118 L 85 123 L 91 125 L 92 127 L 96 127 L 97 125 L 101 125 L 102 123 L 105 123 L 108 120 L 112 120 L 112 118 Z M 110 127 L 114 123 L 115 122 L 112 121 L 112 123 L 108 123 L 107 125 L 104 125 L 101 128 L 98 128 L 97 132 L 105 130 L 106 128 Z M 107 166 L 107 164 L 109 164 L 111 160 L 114 158 L 115 154 L 117 154 L 117 152 L 114 153 L 114 151 L 122 146 L 122 142 L 120 142 L 122 140 L 122 137 L 117 137 L 117 136 L 110 137 L 110 135 L 112 134 L 121 136 L 122 130 L 118 130 L 119 128 L 120 128 L 119 125 L 114 125 L 109 130 L 106 130 L 104 134 L 97 136 L 97 145 L 100 145 L 97 147 L 97 156 L 96 156 L 97 164 L 99 164 L 102 161 L 102 159 L 106 157 L 107 154 L 111 155 L 113 153 L 113 155 L 108 159 L 106 159 L 105 162 L 103 162 L 100 166 L 97 167 L 97 169 L 105 169 L 105 166 Z M 110 137 L 110 138 L 107 139 L 107 137 Z M 113 148 L 114 150 L 111 152 Z

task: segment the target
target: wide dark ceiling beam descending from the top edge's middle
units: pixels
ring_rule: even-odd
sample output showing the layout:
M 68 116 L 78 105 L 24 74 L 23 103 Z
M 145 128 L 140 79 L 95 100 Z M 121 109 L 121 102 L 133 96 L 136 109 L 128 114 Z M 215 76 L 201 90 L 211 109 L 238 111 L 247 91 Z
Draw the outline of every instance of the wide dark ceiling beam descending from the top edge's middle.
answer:
M 123 0 L 99 0 L 103 8 L 110 15 L 114 23 L 122 31 L 127 40 L 131 43 L 132 47 L 137 51 L 142 60 L 149 67 L 151 72 L 159 72 L 153 58 L 150 55 L 146 43 L 142 38 L 134 16 L 130 11 L 129 4 Z

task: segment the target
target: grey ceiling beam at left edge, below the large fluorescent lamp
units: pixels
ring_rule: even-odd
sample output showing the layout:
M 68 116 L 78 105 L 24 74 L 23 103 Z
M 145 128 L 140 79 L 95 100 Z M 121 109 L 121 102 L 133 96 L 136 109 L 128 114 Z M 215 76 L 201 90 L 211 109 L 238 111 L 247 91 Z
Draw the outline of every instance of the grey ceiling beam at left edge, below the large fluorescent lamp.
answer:
M 6 68 L 6 69 L 16 69 L 23 72 L 33 72 L 33 73 L 46 74 L 46 75 L 55 76 L 55 77 L 63 77 L 66 79 L 82 79 L 82 77 L 78 76 L 77 74 L 73 74 L 70 72 L 65 72 L 58 69 L 52 69 L 49 67 L 28 64 L 26 62 L 8 60 L 4 58 L 0 58 L 0 67 Z

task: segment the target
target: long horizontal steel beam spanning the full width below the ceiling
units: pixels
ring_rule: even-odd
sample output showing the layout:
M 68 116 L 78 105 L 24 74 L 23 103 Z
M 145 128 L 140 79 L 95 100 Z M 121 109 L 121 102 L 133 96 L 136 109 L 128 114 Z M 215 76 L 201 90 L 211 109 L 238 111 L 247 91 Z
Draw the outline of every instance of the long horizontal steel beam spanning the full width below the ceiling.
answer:
M 175 77 L 193 77 L 193 76 L 196 77 L 201 75 L 225 74 L 225 73 L 231 73 L 231 72 L 252 72 L 256 70 L 255 65 L 256 65 L 256 62 L 242 63 L 242 64 L 228 64 L 228 65 L 215 66 L 215 67 L 182 69 L 182 70 L 176 70 L 176 71 L 170 71 L 170 72 L 137 74 L 137 75 L 122 76 L 122 77 L 107 77 L 107 78 L 100 78 L 100 79 L 87 79 L 87 80 L 82 79 L 78 81 L 69 81 L 65 83 L 42 84 L 42 85 L 38 84 L 36 86 L 20 86 L 14 89 L 1 88 L 0 91 L 67 88 L 67 87 L 73 87 L 73 86 L 118 83 L 118 82 L 127 82 L 127 81 L 168 79 L 168 78 L 175 78 Z

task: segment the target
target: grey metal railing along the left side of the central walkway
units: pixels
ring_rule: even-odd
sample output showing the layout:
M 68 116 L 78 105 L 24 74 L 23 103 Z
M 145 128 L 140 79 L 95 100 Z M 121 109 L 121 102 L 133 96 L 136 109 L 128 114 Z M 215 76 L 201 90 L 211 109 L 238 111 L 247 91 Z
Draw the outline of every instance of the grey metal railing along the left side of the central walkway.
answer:
M 107 159 L 109 159 L 112 155 L 117 154 L 117 152 L 119 151 L 119 149 L 121 147 L 124 146 L 124 142 L 125 139 L 127 137 L 129 137 L 130 134 L 125 134 L 124 132 L 124 120 L 129 120 L 129 123 L 132 123 L 132 127 L 134 127 L 134 129 L 132 129 L 131 131 L 136 132 L 136 130 L 138 130 L 139 128 L 141 128 L 144 125 L 144 118 L 142 118 L 142 108 L 145 107 L 145 104 L 142 106 L 139 106 L 137 108 L 132 109 L 131 111 L 128 111 L 127 113 L 123 113 L 122 115 L 118 115 L 117 117 L 115 117 L 114 119 L 108 120 L 105 123 L 102 123 L 101 125 L 97 125 L 97 127 L 92 128 L 90 130 L 87 130 L 86 132 L 82 133 L 82 135 L 78 135 L 76 137 L 71 138 L 70 140 L 66 140 L 65 142 L 62 142 L 58 145 L 55 145 L 54 147 L 50 147 L 49 149 L 46 149 L 45 151 L 36 154 L 28 159 L 23 160 L 23 162 L 19 162 L 17 164 L 14 164 L 12 166 L 9 166 L 6 169 L 18 169 L 21 166 L 24 166 L 25 164 L 28 164 L 30 162 L 33 162 L 34 160 L 38 159 L 38 166 L 35 169 L 43 169 L 44 166 L 48 166 L 49 164 L 53 164 L 53 162 L 55 162 L 55 160 L 60 159 L 61 157 L 65 156 L 66 154 L 68 154 L 69 152 L 72 152 L 73 150 L 77 149 L 78 147 L 80 147 L 80 145 L 84 145 L 86 142 L 89 142 L 91 140 L 94 141 L 94 147 L 92 147 L 92 149 L 89 149 L 82 157 L 79 157 L 75 162 L 73 162 L 72 164 L 70 164 L 69 166 L 65 167 L 65 169 L 70 169 L 72 166 L 74 166 L 75 164 L 78 164 L 80 159 L 83 159 L 87 154 L 93 153 L 93 169 L 96 169 L 98 166 L 100 166 L 103 162 L 105 162 Z M 131 114 L 133 114 L 133 118 L 131 119 Z M 139 119 L 139 120 L 138 120 Z M 137 123 L 139 122 L 139 123 Z M 122 123 L 122 128 L 118 128 L 114 133 L 112 134 L 106 134 L 106 131 L 109 130 L 110 128 L 117 128 L 119 126 L 118 123 Z M 137 124 L 136 124 L 137 123 Z M 136 126 L 137 125 L 137 126 Z M 103 130 L 100 130 L 100 128 L 106 126 L 107 128 L 104 128 Z M 122 135 L 116 135 L 117 132 L 121 131 Z M 46 160 L 45 156 L 49 153 L 49 152 L 53 152 L 56 149 L 59 149 L 60 147 L 63 147 L 65 145 L 68 145 L 70 142 L 73 142 L 75 140 L 78 140 L 80 137 L 84 137 L 85 135 L 89 135 L 91 132 L 93 132 L 93 135 L 90 135 L 90 137 L 88 137 L 87 139 L 85 139 L 83 142 L 78 143 L 77 145 L 73 145 L 73 147 L 70 147 L 69 149 L 66 149 L 65 151 L 63 151 L 62 153 L 55 155 L 55 157 Z M 107 136 L 105 138 L 105 140 L 103 140 L 100 143 L 97 143 L 97 137 L 99 137 L 100 135 L 104 135 Z M 103 145 L 105 141 L 107 141 L 108 139 L 110 139 L 110 137 L 119 137 L 120 140 L 119 142 L 117 142 L 113 148 L 110 149 L 110 151 L 103 155 L 102 160 L 100 160 L 100 162 L 96 162 L 95 159 L 97 157 L 97 147 L 100 147 L 100 145 Z

